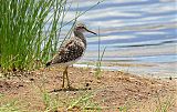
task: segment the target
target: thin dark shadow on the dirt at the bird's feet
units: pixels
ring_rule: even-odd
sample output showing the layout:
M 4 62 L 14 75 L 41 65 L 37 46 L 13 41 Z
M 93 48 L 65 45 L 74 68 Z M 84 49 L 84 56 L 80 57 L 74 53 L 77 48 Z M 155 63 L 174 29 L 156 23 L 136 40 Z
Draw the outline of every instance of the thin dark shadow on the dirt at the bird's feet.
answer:
M 54 90 L 50 91 L 49 93 L 61 92 L 61 91 L 86 91 L 86 90 L 91 90 L 91 88 L 82 88 L 82 89 L 76 89 L 76 88 L 54 89 Z

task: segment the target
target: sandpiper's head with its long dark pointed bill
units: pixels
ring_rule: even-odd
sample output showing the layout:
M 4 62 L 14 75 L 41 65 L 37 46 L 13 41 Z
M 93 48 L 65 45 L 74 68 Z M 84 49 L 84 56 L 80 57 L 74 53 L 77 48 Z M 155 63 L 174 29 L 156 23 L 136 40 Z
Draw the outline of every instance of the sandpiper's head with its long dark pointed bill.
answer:
M 83 23 L 76 23 L 75 27 L 74 27 L 74 30 L 77 31 L 77 32 L 82 32 L 82 33 L 83 33 L 83 32 L 90 32 L 90 33 L 96 34 L 95 32 L 88 30 L 88 29 L 86 28 L 86 26 L 83 24 Z

